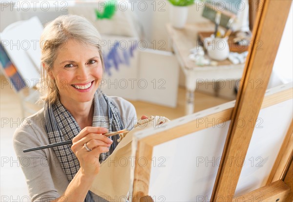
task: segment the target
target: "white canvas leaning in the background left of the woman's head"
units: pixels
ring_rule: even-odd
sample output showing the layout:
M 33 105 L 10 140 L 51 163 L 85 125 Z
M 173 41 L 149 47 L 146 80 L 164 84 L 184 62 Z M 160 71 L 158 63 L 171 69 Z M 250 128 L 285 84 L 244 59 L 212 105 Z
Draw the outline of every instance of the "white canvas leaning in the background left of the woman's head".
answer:
M 36 84 L 41 68 L 40 37 L 43 26 L 37 17 L 19 21 L 1 33 L 1 43 L 7 55 L 29 87 Z M 20 34 L 21 33 L 21 34 Z

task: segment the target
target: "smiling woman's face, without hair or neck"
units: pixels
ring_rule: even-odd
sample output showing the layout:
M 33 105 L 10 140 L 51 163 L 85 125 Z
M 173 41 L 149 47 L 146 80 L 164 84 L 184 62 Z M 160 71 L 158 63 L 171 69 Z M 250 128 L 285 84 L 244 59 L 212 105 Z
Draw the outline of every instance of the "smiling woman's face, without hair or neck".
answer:
M 103 76 L 98 48 L 68 40 L 58 50 L 49 75 L 56 81 L 63 104 L 92 101 Z

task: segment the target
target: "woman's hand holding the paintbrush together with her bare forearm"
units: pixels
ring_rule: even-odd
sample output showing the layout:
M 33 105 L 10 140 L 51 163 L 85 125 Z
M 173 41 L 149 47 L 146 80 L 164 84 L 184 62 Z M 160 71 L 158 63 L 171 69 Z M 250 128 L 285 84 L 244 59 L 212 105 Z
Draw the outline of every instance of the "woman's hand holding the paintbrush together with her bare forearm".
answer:
M 85 127 L 72 139 L 72 151 L 77 156 L 81 168 L 76 173 L 72 181 L 67 186 L 61 197 L 52 202 L 83 202 L 88 190 L 90 189 L 95 175 L 99 173 L 99 157 L 101 153 L 109 151 L 112 140 L 107 138 L 104 133 L 106 128 Z M 86 147 L 91 149 L 88 151 Z

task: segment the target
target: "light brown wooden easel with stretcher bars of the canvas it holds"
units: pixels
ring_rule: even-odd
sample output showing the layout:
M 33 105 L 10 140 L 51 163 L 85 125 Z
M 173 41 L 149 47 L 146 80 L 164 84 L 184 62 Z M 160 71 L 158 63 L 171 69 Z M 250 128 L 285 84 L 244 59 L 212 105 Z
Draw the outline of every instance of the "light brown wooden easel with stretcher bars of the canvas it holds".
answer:
M 211 195 L 211 202 L 217 202 L 219 197 L 224 197 L 227 202 L 235 201 L 235 199 L 232 199 L 230 196 L 234 196 L 242 166 L 237 166 L 235 163 L 227 165 L 224 160 L 227 156 L 234 157 L 232 159 L 246 156 L 254 127 L 236 127 L 234 120 L 238 120 L 238 118 L 241 117 L 245 121 L 249 121 L 249 119 L 252 118 L 252 120 L 254 120 L 253 126 L 255 126 L 260 109 L 285 101 L 289 99 L 288 97 L 290 97 L 290 99 L 292 98 L 292 89 L 290 92 L 283 92 L 284 94 L 278 95 L 278 99 L 276 99 L 276 97 L 264 98 L 291 4 L 291 0 L 260 1 L 262 11 L 259 12 L 256 17 L 252 43 L 242 77 L 243 83 L 240 88 L 241 90 L 238 92 L 235 107 L 213 114 L 212 117 L 204 117 L 207 120 L 211 118 L 227 118 L 231 120 L 231 126 L 220 163 L 220 165 L 223 166 L 220 166 L 218 169 Z M 262 49 L 260 50 L 258 47 L 261 42 Z M 249 82 L 259 79 L 262 81 L 261 88 L 251 88 L 251 85 L 247 85 Z M 251 102 L 251 100 L 253 100 L 253 102 Z M 147 196 L 147 193 L 153 147 L 201 129 L 192 129 L 190 126 L 194 126 L 194 124 L 196 124 L 196 121 L 159 132 L 156 135 L 138 141 L 136 159 L 144 157 L 149 163 L 145 167 L 139 166 L 138 162 L 135 163 L 132 193 L 134 201 L 138 201 L 139 199 L 140 201 L 152 201 L 151 198 Z M 293 148 L 292 144 L 289 142 L 293 141 L 292 129 L 293 126 L 291 124 L 272 168 L 267 185 L 244 195 L 243 197 L 246 201 L 259 201 L 259 198 L 256 198 L 259 196 L 262 197 L 262 202 L 293 201 Z M 178 133 L 178 131 L 180 131 L 180 133 Z M 253 198 L 251 198 L 251 196 Z

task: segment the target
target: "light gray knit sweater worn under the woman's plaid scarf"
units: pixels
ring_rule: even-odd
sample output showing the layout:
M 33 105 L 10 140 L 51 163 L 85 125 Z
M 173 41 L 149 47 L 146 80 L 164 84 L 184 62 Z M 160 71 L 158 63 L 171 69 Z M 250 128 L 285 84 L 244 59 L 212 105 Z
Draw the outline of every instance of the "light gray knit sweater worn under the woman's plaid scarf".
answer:
M 117 106 L 127 129 L 137 122 L 133 105 L 121 97 L 109 96 Z M 60 197 L 69 182 L 52 148 L 23 153 L 23 149 L 48 145 L 44 128 L 44 110 L 28 117 L 15 131 L 14 149 L 26 178 L 31 201 L 48 202 Z M 105 182 L 102 182 L 105 183 Z M 94 194 L 93 194 L 94 195 Z M 94 195 L 94 200 L 101 198 Z

